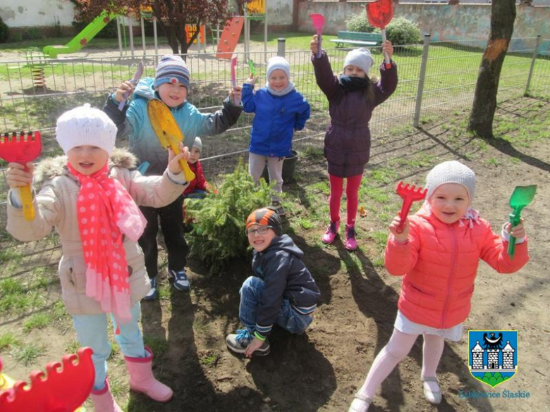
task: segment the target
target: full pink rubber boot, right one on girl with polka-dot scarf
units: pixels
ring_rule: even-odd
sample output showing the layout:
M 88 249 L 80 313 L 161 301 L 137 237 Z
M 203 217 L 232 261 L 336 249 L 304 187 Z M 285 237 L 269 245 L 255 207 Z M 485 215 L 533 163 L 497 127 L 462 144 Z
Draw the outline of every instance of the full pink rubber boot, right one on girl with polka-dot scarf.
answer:
M 157 402 L 168 402 L 172 399 L 172 389 L 159 382 L 153 376 L 153 351 L 145 347 L 147 358 L 130 358 L 124 356 L 126 368 L 130 375 L 130 389 L 143 392 Z

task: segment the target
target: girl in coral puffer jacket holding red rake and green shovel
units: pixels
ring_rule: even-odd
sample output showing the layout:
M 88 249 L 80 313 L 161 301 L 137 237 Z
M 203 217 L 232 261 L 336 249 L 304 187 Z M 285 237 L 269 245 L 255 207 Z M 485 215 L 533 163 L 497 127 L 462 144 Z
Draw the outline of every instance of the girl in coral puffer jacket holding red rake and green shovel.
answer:
M 441 402 L 436 368 L 444 339 L 460 341 L 462 323 L 470 313 L 470 299 L 479 259 L 499 273 L 513 273 L 529 260 L 523 223 L 503 225 L 501 235 L 471 207 L 475 174 L 458 161 L 446 161 L 427 176 L 427 200 L 414 216 L 389 226 L 385 266 L 403 276 L 393 334 L 374 359 L 367 380 L 355 394 L 350 412 L 365 412 L 377 387 L 407 356 L 423 335 L 422 385 L 430 404 Z M 508 239 L 517 239 L 515 256 L 508 256 Z

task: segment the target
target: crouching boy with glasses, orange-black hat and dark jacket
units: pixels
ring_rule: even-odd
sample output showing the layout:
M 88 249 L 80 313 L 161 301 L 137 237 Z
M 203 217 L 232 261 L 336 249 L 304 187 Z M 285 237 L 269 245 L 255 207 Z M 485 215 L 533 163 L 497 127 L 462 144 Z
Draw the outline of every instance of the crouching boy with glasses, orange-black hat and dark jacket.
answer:
M 321 296 L 302 259 L 304 253 L 283 234 L 276 208 L 259 208 L 246 220 L 248 243 L 254 249 L 253 276 L 240 287 L 239 318 L 245 329 L 226 337 L 236 354 L 264 356 L 271 351 L 274 324 L 300 334 L 312 323 Z

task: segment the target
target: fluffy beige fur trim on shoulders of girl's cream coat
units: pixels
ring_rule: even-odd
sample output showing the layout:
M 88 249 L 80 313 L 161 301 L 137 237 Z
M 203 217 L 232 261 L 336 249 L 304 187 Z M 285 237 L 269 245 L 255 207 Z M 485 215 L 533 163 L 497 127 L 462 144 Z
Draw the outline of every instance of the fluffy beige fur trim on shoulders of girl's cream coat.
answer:
M 44 158 L 35 168 L 34 181 L 37 185 L 42 185 L 46 180 L 56 176 L 68 173 L 67 156 L 57 156 L 53 158 Z M 133 169 L 138 165 L 138 158 L 126 149 L 113 149 L 109 157 L 109 170 L 111 168 Z

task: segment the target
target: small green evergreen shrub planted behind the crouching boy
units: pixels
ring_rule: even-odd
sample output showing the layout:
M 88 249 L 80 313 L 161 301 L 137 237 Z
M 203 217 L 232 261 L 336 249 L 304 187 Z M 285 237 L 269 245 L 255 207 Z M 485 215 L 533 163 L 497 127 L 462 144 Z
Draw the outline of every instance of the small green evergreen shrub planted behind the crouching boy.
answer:
M 218 194 L 186 201 L 186 216 L 195 220 L 190 255 L 219 273 L 233 258 L 247 255 L 246 218 L 256 208 L 271 203 L 271 187 L 261 179 L 258 186 L 239 160 L 235 171 L 225 175 Z

